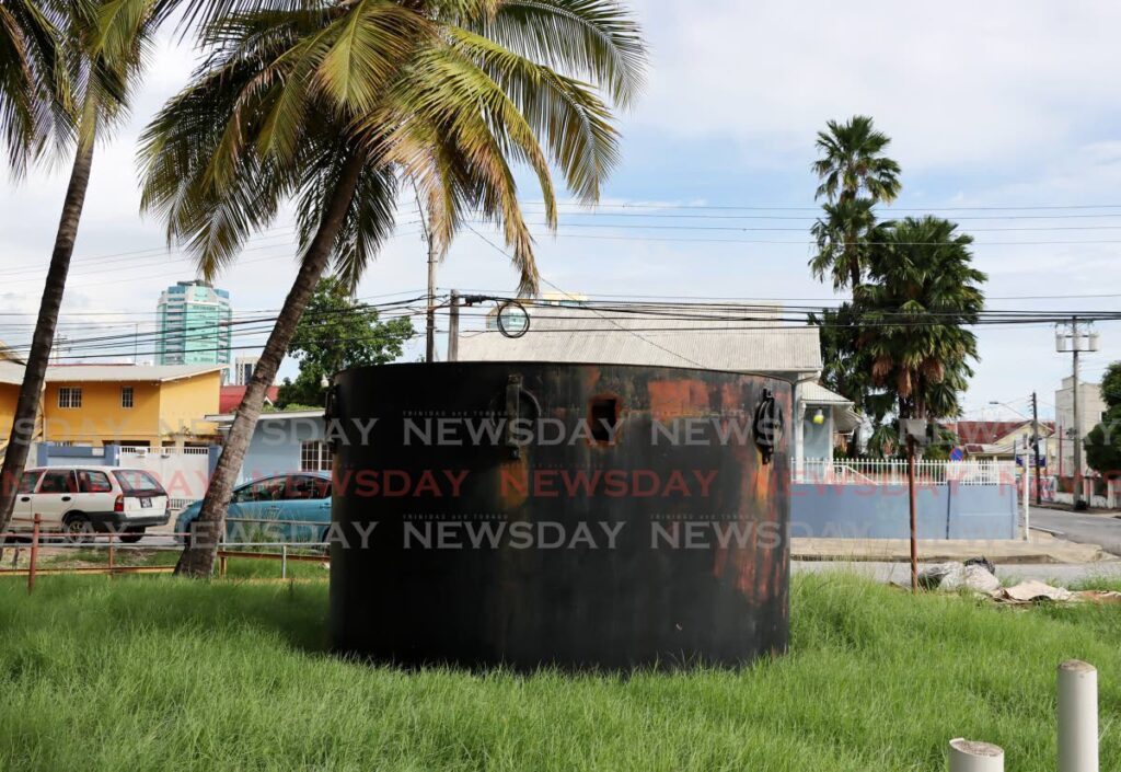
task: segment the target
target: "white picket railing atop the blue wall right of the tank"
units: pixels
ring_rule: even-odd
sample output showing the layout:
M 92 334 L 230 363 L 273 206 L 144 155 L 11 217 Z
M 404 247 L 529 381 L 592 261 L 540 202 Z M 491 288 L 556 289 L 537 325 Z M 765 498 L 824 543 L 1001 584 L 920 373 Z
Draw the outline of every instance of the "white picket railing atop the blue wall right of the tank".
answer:
M 915 462 L 915 479 L 925 485 L 1010 485 L 1016 482 L 1012 461 Z M 897 459 L 806 459 L 794 470 L 795 482 L 832 485 L 907 485 L 907 461 Z

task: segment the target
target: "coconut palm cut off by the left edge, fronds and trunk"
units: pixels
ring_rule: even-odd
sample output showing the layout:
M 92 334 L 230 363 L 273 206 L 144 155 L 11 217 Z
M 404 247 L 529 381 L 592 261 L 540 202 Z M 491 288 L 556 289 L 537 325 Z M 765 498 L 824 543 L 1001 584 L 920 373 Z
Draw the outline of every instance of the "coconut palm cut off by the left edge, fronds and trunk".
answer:
M 24 383 L 0 469 L 0 531 L 11 516 L 16 481 L 27 463 L 93 166 L 94 145 L 124 114 L 130 88 L 141 70 L 155 25 L 151 12 L 141 12 L 127 25 L 129 35 L 106 34 L 113 26 L 117 7 L 115 0 L 27 4 L 17 0 L 0 6 L 0 27 L 4 27 L 0 35 L 3 67 L 0 126 L 7 136 L 9 158 L 17 169 L 22 169 L 52 140 L 59 147 L 73 147 L 74 151 Z M 9 26 L 11 20 L 21 25 Z M 27 65 L 22 71 L 20 62 Z

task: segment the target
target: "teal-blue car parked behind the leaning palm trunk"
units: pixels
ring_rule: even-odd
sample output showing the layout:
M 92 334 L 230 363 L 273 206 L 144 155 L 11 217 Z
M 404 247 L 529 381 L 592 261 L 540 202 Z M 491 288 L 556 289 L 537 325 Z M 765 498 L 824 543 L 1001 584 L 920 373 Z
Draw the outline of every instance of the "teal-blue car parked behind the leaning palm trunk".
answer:
M 175 521 L 179 540 L 191 533 L 202 502 L 185 508 Z M 331 475 L 293 472 L 263 477 L 233 490 L 225 516 L 225 542 L 324 542 L 331 526 Z

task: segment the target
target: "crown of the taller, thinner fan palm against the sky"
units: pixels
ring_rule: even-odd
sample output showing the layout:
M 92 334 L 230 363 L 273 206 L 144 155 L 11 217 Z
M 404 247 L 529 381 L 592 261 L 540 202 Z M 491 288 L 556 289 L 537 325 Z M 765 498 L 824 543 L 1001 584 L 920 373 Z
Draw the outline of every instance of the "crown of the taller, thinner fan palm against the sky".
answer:
M 846 123 L 826 126 L 817 135 L 821 157 L 813 164 L 821 183 L 815 197 L 825 199 L 825 217 L 813 229 L 818 252 L 810 267 L 818 278 L 831 274 L 836 290 L 855 288 L 873 240 L 872 209 L 899 195 L 899 164 L 884 155 L 891 139 L 876 130 L 871 118 L 853 116 Z

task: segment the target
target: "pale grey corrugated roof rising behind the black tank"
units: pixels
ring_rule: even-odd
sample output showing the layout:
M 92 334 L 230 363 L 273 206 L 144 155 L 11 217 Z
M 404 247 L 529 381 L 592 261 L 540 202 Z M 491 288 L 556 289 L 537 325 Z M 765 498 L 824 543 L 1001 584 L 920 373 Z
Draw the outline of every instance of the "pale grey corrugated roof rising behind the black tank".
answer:
M 752 311 L 752 316 L 775 316 L 775 322 L 743 322 L 645 314 L 621 316 L 618 311 L 539 306 L 529 311 L 529 331 L 521 338 L 506 338 L 497 330 L 462 333 L 460 360 L 700 367 L 745 373 L 819 371 L 817 329 L 778 327 L 780 311 L 777 305 Z

